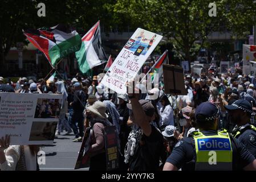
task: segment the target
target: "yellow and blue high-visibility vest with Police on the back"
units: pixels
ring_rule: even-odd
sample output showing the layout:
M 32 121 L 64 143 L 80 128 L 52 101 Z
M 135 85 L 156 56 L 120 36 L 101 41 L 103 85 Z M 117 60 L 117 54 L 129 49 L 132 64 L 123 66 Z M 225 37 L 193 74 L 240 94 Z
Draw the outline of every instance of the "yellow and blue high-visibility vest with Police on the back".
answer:
M 232 146 L 226 130 L 218 135 L 193 133 L 196 147 L 196 170 L 232 170 Z

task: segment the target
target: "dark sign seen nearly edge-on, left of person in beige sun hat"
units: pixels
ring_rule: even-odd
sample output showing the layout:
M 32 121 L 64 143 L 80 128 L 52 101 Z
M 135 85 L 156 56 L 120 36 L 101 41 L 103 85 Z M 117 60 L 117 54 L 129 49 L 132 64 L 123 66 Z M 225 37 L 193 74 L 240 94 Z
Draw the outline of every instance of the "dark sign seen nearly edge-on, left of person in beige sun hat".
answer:
M 88 156 L 87 152 L 90 148 L 91 134 L 91 127 L 87 127 L 84 132 L 84 138 L 80 147 L 78 159 L 76 160 L 75 169 L 90 167 L 90 156 Z

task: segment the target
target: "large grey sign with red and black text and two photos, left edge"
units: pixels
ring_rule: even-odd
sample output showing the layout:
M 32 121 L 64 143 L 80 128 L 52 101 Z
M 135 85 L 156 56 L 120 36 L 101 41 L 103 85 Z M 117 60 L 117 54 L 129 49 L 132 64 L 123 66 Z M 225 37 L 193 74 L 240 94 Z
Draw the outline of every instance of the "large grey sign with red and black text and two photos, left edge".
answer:
M 0 93 L 0 137 L 10 144 L 52 144 L 62 94 Z

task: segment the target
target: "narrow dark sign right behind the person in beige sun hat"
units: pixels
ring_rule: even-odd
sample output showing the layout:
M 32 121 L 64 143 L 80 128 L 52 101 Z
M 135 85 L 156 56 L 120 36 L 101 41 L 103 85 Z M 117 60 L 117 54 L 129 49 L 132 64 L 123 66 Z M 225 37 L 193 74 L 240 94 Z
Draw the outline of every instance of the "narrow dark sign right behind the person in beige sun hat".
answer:
M 117 144 L 116 126 L 104 128 L 105 151 L 107 159 L 107 171 L 119 168 L 119 151 Z

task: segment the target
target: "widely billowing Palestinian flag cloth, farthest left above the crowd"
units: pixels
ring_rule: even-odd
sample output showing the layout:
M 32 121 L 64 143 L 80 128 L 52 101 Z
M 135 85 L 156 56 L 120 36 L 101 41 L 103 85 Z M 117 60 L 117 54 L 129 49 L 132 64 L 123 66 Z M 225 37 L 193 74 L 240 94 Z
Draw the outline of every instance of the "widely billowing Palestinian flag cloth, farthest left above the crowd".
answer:
M 81 37 L 76 31 L 63 24 L 51 28 L 39 28 L 38 30 L 23 30 L 27 39 L 41 52 L 44 53 L 52 66 L 72 52 L 81 47 Z

